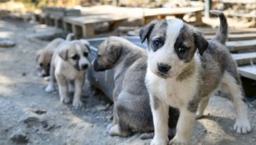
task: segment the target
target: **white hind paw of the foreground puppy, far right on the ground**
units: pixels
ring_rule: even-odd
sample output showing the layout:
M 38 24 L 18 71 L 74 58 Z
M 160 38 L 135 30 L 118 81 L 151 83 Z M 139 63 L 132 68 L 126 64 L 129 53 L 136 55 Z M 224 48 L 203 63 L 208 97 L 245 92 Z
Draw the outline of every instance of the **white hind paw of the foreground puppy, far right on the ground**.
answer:
M 252 131 L 251 125 L 248 119 L 236 119 L 236 124 L 234 125 L 234 130 L 237 133 L 249 133 Z

